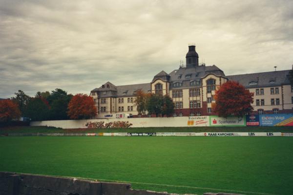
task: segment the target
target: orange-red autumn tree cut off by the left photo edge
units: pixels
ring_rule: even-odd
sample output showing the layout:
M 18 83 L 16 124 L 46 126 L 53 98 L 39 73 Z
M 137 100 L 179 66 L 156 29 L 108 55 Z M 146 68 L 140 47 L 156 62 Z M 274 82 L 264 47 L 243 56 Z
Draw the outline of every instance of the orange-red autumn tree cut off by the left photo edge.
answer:
M 0 122 L 8 122 L 19 117 L 21 117 L 21 111 L 17 103 L 10 99 L 0 101 Z

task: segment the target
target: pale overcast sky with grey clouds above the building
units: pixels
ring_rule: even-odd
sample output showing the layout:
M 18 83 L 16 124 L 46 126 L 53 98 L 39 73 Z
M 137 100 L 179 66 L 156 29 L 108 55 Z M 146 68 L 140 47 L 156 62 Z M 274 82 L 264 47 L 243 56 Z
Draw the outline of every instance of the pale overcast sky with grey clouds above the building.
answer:
M 293 0 L 0 0 L 0 98 L 150 82 L 199 62 L 226 75 L 288 70 Z

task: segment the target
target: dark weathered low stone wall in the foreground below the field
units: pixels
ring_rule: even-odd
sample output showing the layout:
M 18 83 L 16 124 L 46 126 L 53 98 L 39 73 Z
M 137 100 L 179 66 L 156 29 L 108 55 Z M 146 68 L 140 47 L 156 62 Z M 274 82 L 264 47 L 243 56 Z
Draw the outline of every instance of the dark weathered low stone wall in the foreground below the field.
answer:
M 0 172 L 0 195 L 175 195 L 133 190 L 128 183 Z M 212 193 L 207 195 L 232 195 Z

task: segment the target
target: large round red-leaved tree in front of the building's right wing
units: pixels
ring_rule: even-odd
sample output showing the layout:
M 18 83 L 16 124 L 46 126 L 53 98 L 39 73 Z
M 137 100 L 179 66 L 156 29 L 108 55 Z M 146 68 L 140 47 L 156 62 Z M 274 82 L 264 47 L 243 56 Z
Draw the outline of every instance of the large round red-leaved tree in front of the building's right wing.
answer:
M 214 99 L 216 102 L 212 104 L 212 108 L 220 117 L 242 117 L 253 110 L 253 93 L 236 81 L 224 83 L 216 90 Z

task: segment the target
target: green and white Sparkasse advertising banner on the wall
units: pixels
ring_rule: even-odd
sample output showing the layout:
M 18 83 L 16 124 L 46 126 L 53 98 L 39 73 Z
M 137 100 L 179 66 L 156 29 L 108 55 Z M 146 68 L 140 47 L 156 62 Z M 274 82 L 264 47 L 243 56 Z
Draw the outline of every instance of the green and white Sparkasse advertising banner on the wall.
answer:
M 246 117 L 209 117 L 210 126 L 246 126 Z

